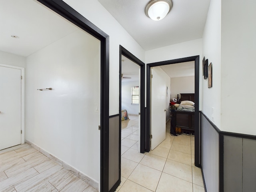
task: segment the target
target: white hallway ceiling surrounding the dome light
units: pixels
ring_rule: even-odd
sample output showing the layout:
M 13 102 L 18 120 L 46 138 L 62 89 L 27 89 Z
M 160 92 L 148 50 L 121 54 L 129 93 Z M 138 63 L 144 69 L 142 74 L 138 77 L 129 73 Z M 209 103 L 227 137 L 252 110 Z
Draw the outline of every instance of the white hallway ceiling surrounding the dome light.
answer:
M 172 0 L 172 10 L 160 21 L 145 14 L 150 0 L 98 0 L 142 46 L 152 50 L 202 38 L 210 0 Z

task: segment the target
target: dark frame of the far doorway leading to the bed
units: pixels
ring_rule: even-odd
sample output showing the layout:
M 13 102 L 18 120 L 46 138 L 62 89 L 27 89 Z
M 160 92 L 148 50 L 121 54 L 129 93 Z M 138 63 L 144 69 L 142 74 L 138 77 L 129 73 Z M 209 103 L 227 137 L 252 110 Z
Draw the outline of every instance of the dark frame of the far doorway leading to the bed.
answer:
M 182 62 L 195 62 L 195 165 L 200 167 L 200 130 L 199 130 L 199 55 L 186 58 L 155 62 L 147 64 L 146 74 L 146 95 L 147 95 L 147 110 L 146 110 L 146 152 L 150 151 L 150 68 L 155 66 L 176 64 Z

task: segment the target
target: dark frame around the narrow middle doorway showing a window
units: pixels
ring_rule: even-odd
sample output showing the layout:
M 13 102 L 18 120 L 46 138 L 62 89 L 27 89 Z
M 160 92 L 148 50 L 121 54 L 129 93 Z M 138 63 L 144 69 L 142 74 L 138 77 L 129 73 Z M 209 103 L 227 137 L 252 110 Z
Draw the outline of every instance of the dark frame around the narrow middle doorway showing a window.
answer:
M 146 140 L 146 109 L 145 109 L 145 64 L 136 58 L 132 53 L 126 50 L 120 45 L 119 52 L 119 113 L 120 113 L 120 132 L 121 132 L 121 86 L 122 86 L 122 55 L 126 56 L 128 59 L 132 60 L 134 63 L 140 66 L 140 152 L 145 152 Z M 120 136 L 121 137 L 121 136 Z M 121 160 L 121 156 L 120 156 Z

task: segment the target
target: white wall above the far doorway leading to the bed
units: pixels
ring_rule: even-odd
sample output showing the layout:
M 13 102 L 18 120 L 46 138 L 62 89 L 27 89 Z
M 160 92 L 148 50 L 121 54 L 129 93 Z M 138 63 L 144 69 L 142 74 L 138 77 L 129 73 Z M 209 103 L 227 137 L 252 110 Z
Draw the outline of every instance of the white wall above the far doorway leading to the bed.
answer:
M 200 66 L 202 66 L 202 39 L 196 39 L 188 42 L 182 42 L 154 50 L 146 51 L 146 63 L 166 61 L 189 56 L 200 56 Z M 202 74 L 200 67 L 199 74 Z M 201 110 L 201 84 L 202 76 L 199 77 L 199 110 Z

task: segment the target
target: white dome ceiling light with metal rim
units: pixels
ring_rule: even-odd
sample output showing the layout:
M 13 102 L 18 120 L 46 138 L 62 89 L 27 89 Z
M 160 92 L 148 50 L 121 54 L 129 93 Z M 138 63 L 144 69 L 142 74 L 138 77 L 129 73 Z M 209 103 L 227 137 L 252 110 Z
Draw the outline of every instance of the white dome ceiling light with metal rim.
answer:
M 154 21 L 163 19 L 172 9 L 172 0 L 151 0 L 148 2 L 146 16 Z

